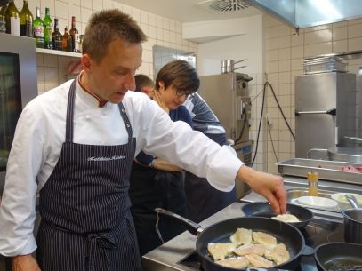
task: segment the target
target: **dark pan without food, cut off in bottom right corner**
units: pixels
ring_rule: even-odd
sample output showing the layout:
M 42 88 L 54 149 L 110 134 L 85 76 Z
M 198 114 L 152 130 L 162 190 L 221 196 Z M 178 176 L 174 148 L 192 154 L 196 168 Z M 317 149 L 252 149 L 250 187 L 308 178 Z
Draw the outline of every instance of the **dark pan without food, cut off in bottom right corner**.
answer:
M 316 259 L 319 271 L 347 271 L 348 266 L 361 268 L 362 244 L 337 242 L 321 244 L 316 248 L 314 259 Z M 339 268 L 334 269 L 336 266 Z

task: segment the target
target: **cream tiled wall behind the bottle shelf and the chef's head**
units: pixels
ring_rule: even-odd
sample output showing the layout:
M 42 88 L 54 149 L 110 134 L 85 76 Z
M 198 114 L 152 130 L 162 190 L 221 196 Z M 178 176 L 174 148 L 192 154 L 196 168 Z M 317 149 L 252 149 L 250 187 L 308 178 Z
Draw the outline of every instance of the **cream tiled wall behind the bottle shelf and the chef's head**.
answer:
M 15 4 L 21 10 L 22 0 L 15 0 Z M 153 45 L 157 44 L 185 52 L 197 53 L 197 44 L 182 39 L 180 21 L 144 12 L 125 4 L 110 0 L 28 0 L 28 6 L 34 15 L 36 14 L 36 6 L 40 7 L 42 19 L 44 18 L 45 7 L 49 7 L 52 20 L 54 17 L 59 19 L 61 33 L 64 33 L 66 26 L 70 27 L 72 16 L 76 16 L 76 28 L 82 34 L 93 12 L 117 8 L 128 13 L 139 23 L 145 34 L 149 36 L 149 40 L 143 44 L 143 63 L 138 72 L 150 77 L 153 77 Z M 41 93 L 71 78 L 72 75 L 68 75 L 69 62 L 78 59 L 37 53 L 36 60 L 38 91 Z

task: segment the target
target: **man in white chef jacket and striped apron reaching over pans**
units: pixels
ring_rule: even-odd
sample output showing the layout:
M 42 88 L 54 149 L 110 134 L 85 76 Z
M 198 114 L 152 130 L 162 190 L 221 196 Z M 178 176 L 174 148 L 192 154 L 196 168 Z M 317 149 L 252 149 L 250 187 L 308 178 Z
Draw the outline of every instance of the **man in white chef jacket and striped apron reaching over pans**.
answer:
M 125 13 L 94 13 L 83 72 L 24 108 L 0 207 L 0 254 L 13 257 L 14 270 L 141 270 L 128 198 L 141 149 L 222 191 L 245 181 L 274 211 L 286 211 L 283 179 L 253 171 L 188 124 L 173 123 L 146 95 L 128 92 L 144 41 Z M 42 221 L 35 239 L 36 193 Z

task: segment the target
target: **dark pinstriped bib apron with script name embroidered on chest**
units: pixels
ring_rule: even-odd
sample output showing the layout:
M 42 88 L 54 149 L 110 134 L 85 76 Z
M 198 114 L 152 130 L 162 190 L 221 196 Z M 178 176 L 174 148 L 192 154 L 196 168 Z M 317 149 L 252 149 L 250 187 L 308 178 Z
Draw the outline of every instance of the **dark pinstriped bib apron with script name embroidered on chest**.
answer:
M 136 145 L 131 124 L 120 103 L 127 144 L 73 143 L 75 92 L 76 80 L 68 95 L 66 141 L 40 191 L 36 258 L 42 271 L 141 270 L 128 197 Z

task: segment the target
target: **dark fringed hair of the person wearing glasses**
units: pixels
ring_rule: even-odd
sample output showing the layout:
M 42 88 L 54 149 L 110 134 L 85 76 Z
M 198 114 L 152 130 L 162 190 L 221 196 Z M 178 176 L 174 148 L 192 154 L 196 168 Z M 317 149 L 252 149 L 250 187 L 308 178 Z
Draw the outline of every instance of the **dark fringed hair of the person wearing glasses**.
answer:
M 160 82 L 164 83 L 165 89 L 173 85 L 178 91 L 184 92 L 197 92 L 200 86 L 196 69 L 185 60 L 173 60 L 165 64 L 156 76 L 157 90 Z

